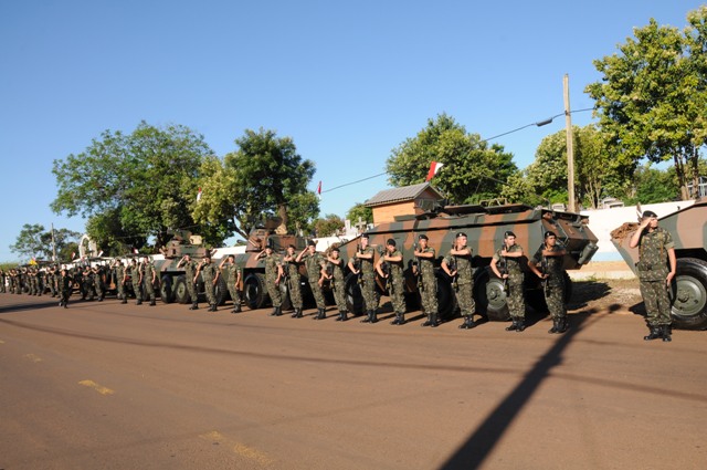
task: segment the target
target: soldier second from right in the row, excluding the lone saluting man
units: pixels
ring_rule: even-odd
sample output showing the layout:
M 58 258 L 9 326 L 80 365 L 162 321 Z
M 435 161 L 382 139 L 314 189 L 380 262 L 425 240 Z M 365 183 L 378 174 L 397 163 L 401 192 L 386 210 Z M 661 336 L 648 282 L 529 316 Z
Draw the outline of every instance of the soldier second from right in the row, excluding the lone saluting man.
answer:
M 490 269 L 494 274 L 508 283 L 506 302 L 508 303 L 511 324 L 506 331 L 509 332 L 523 332 L 526 328 L 526 301 L 523 292 L 524 274 L 520 267 L 523 255 L 523 247 L 516 244 L 516 234 L 511 231 L 506 231 L 503 247 L 494 253 L 490 260 Z

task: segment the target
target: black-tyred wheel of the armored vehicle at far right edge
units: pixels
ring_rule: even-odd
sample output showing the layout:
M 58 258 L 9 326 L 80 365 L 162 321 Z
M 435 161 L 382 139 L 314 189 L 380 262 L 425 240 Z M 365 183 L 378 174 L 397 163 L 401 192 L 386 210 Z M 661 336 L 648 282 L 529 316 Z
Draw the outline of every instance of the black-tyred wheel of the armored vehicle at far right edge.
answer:
M 696 258 L 678 259 L 672 296 L 675 327 L 707 328 L 707 262 Z

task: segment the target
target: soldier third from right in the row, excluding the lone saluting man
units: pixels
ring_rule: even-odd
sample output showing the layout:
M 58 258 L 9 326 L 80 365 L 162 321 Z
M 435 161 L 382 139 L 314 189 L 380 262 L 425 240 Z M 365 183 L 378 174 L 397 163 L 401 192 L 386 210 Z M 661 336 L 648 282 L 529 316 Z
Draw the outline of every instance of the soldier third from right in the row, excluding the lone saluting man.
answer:
M 476 326 L 474 313 L 474 269 L 472 267 L 472 249 L 466 244 L 466 233 L 458 232 L 454 238 L 454 244 L 449 254 L 442 260 L 442 269 L 452 279 L 452 288 L 460 306 L 460 313 L 464 323 L 462 330 L 471 330 Z

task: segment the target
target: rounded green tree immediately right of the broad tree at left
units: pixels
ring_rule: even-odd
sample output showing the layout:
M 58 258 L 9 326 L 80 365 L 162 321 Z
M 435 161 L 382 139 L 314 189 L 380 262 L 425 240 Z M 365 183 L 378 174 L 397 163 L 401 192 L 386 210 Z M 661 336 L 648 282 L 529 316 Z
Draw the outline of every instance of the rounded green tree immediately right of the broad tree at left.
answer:
M 266 217 L 279 217 L 291 230 L 304 229 L 317 217 L 318 200 L 307 191 L 315 166 L 302 159 L 292 138 L 246 129 L 235 144 L 238 150 L 223 160 L 211 158 L 202 165 L 202 197 L 192 212 L 198 222 L 247 238 Z

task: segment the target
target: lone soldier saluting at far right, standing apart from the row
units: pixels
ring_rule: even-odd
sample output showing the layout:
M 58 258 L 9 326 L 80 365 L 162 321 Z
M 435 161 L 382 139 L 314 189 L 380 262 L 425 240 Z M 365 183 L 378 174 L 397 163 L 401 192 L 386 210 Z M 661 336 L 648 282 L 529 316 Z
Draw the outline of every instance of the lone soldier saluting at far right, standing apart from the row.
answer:
M 648 335 L 643 340 L 663 338 L 664 342 L 669 342 L 672 321 L 667 289 L 677 269 L 673 237 L 658 227 L 657 215 L 646 210 L 639 229 L 631 237 L 630 247 L 639 247 L 636 268 L 650 328 Z

